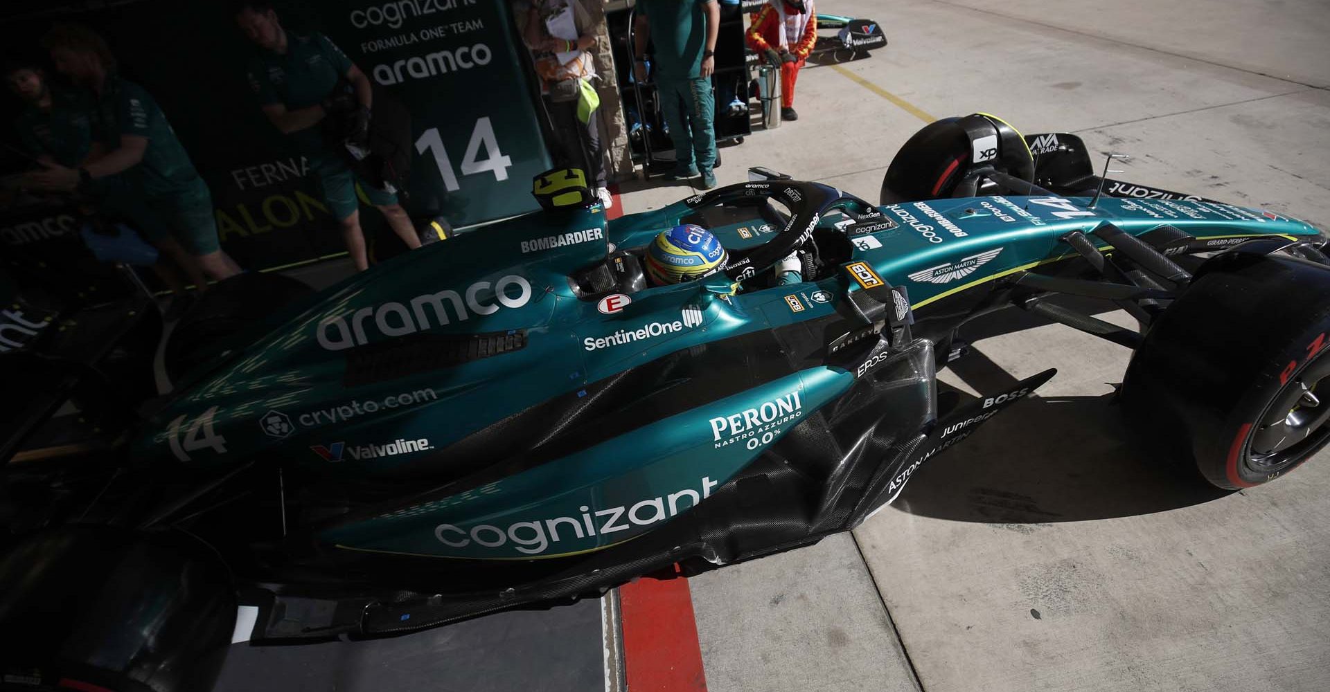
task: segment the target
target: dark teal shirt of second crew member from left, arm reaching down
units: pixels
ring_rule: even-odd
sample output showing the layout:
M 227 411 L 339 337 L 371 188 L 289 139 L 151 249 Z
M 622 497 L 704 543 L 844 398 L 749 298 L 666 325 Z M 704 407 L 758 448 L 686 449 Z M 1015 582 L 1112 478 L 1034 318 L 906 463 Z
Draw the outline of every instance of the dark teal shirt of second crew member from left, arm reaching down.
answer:
M 196 193 L 201 178 L 166 114 L 142 86 L 109 74 L 92 110 L 93 135 L 108 150 L 126 134 L 146 137 L 148 149 L 138 169 L 148 197 Z

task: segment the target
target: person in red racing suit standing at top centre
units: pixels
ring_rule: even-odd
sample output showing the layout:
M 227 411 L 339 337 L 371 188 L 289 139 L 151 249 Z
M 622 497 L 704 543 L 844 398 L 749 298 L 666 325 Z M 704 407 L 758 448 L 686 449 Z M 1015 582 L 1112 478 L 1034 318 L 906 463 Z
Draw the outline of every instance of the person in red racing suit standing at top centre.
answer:
M 799 120 L 794 112 L 794 81 L 818 41 L 813 0 L 769 0 L 753 16 L 745 39 L 771 66 L 781 66 L 781 118 Z

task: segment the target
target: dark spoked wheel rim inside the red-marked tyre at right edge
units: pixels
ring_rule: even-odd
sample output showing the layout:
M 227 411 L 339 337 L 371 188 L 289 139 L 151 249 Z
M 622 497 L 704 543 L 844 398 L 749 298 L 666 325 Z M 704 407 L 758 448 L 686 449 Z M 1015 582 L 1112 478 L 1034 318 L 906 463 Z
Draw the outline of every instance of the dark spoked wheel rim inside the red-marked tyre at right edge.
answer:
M 1330 441 L 1330 357 L 1325 353 L 1289 377 L 1248 442 L 1248 468 L 1270 474 Z

